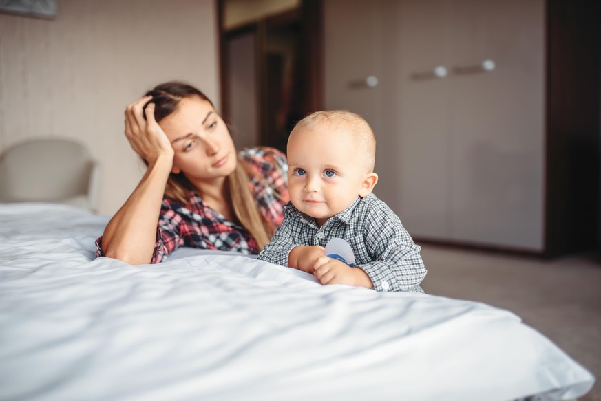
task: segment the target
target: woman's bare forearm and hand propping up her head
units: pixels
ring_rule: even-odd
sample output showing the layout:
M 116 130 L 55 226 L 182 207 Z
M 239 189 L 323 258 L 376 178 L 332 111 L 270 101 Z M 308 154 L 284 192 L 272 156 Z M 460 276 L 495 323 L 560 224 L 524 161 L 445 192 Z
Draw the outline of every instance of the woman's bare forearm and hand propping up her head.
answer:
M 173 148 L 154 119 L 150 103 L 143 117 L 145 96 L 125 109 L 125 136 L 148 163 L 145 175 L 125 204 L 109 221 L 103 234 L 103 256 L 133 265 L 150 263 L 156 243 L 156 227 L 165 184 L 173 167 Z

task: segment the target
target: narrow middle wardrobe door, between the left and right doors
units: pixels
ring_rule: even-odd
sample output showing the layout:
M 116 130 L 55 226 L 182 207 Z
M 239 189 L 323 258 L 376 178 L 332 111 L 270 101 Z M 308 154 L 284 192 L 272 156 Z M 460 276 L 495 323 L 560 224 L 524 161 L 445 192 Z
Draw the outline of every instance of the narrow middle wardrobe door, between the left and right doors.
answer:
M 396 174 L 386 202 L 412 236 L 446 240 L 451 235 L 451 138 L 447 58 L 450 1 L 392 1 L 386 33 L 390 83 L 388 136 L 379 142 L 381 169 Z

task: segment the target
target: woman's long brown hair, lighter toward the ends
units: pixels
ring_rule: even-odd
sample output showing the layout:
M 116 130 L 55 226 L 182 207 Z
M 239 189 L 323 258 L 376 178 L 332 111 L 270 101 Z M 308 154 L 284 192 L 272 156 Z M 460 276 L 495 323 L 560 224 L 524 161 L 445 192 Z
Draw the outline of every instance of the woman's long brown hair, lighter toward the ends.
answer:
M 149 102 L 155 105 L 154 118 L 160 122 L 163 118 L 176 111 L 180 101 L 184 98 L 198 96 L 202 100 L 207 100 L 213 106 L 213 102 L 207 98 L 201 91 L 186 83 L 168 82 L 157 85 L 151 91 L 146 93 L 152 96 Z M 146 106 L 145 106 L 146 107 Z M 275 227 L 271 221 L 267 221 L 261 214 L 257 200 L 251 192 L 249 175 L 253 175 L 257 180 L 263 180 L 253 174 L 251 168 L 238 158 L 236 168 L 226 177 L 226 200 L 231 206 L 235 218 L 257 241 L 257 246 L 262 249 L 271 239 Z M 189 205 L 190 191 L 196 188 L 191 184 L 183 173 L 170 173 L 165 185 L 165 196 L 186 206 Z

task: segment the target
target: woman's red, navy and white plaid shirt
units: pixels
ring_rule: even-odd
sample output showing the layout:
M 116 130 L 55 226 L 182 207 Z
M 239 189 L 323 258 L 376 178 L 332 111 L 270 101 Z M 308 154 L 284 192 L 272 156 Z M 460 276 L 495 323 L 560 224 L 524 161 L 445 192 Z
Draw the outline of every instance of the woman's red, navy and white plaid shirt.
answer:
M 273 148 L 246 148 L 238 154 L 250 167 L 251 191 L 267 221 L 280 226 L 284 204 L 288 202 L 286 156 Z M 273 164 L 275 162 L 277 166 Z M 160 208 L 156 244 L 151 263 L 167 258 L 180 246 L 213 250 L 233 250 L 257 254 L 257 242 L 238 224 L 202 202 L 196 192 L 190 193 L 189 205 L 165 197 Z M 96 241 L 96 256 L 102 256 L 102 237 Z

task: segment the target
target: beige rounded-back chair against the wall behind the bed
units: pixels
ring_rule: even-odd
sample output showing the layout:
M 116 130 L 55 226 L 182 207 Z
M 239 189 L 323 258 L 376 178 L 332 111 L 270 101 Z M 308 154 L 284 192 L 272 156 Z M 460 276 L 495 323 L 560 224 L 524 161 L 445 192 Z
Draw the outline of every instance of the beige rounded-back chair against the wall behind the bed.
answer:
M 57 202 L 98 210 L 100 166 L 78 142 L 38 138 L 0 155 L 0 202 Z

